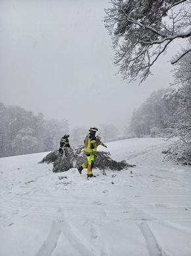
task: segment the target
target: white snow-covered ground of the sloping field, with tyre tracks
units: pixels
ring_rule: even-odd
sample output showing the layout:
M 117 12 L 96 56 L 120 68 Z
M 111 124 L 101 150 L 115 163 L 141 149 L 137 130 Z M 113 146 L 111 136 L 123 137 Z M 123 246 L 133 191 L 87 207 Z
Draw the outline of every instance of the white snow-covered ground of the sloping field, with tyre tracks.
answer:
M 159 138 L 107 147 L 136 167 L 87 180 L 38 164 L 47 152 L 0 159 L 1 256 L 191 255 L 191 168 L 163 162 Z

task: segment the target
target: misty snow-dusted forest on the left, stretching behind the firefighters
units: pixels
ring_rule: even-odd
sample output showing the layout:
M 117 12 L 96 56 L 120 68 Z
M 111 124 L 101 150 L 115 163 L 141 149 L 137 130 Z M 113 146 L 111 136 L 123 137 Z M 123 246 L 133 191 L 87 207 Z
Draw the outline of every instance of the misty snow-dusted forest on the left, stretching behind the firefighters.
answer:
M 45 119 L 22 107 L 0 102 L 0 157 L 39 153 L 59 149 L 59 142 L 70 132 L 70 145 L 82 146 L 90 127 L 70 129 L 68 120 Z M 113 140 L 119 133 L 115 125 L 101 124 L 99 132 L 104 141 Z M 99 134 L 98 132 L 98 134 Z

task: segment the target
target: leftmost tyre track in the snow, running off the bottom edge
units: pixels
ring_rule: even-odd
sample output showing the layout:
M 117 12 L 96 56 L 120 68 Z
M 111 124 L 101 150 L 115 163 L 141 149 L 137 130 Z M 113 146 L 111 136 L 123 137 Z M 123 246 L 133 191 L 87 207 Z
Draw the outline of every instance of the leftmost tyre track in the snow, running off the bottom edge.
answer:
M 61 222 L 53 221 L 51 231 L 36 256 L 50 256 L 53 253 L 53 250 L 57 246 L 59 236 L 61 235 L 62 226 L 63 224 Z

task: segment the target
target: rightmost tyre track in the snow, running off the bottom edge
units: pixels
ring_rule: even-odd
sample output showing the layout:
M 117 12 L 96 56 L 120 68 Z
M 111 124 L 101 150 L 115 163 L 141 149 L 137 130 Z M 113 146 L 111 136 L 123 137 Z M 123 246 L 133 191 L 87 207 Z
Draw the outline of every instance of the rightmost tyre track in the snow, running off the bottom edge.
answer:
M 146 222 L 140 222 L 138 223 L 138 226 L 144 235 L 144 238 L 146 239 L 148 251 L 150 253 L 150 256 L 161 256 L 163 255 L 159 244 L 157 243 L 157 240 L 155 239 L 155 236 L 151 232 L 148 224 Z

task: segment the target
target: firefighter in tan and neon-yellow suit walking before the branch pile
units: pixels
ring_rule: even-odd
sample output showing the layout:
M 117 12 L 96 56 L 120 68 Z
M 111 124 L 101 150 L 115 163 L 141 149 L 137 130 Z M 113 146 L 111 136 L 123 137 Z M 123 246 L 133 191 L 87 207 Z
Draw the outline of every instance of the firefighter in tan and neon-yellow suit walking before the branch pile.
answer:
M 84 140 L 84 153 L 86 154 L 87 161 L 82 163 L 80 167 L 78 167 L 78 171 L 82 174 L 82 170 L 88 167 L 87 175 L 89 177 L 94 177 L 92 173 L 92 169 L 94 167 L 94 157 L 97 153 L 97 145 L 96 145 L 96 138 L 95 133 L 97 132 L 97 127 L 92 126 L 89 130 L 89 134 L 86 135 Z

